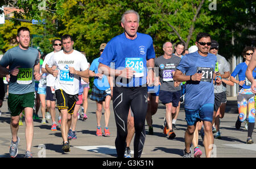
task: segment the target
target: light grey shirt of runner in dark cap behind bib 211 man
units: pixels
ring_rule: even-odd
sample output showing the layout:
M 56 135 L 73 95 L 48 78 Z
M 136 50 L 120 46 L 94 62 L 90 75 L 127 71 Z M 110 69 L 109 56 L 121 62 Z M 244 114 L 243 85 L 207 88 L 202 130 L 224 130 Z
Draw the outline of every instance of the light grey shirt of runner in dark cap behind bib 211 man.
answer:
M 217 63 L 218 65 L 218 72 L 221 74 L 224 74 L 226 71 L 230 71 L 230 66 L 228 62 L 226 61 L 225 57 L 221 56 L 220 54 L 217 54 Z M 214 84 L 214 93 L 220 93 L 225 91 L 226 84 L 221 83 L 220 86 Z

